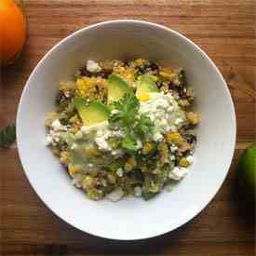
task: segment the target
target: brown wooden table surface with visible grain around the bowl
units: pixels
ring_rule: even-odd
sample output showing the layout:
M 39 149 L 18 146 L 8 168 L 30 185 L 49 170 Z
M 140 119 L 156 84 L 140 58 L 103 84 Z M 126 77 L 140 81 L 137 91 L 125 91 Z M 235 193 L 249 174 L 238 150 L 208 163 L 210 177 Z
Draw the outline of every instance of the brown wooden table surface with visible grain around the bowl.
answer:
M 28 40 L 20 59 L 2 72 L 0 127 L 15 120 L 26 79 L 63 37 L 102 20 L 150 20 L 192 39 L 220 68 L 236 106 L 236 153 L 222 189 L 194 220 L 165 236 L 117 242 L 89 236 L 61 221 L 35 195 L 17 149 L 1 150 L 0 255 L 253 255 L 253 206 L 238 196 L 235 166 L 241 151 L 256 141 L 254 4 L 253 0 L 25 1 Z

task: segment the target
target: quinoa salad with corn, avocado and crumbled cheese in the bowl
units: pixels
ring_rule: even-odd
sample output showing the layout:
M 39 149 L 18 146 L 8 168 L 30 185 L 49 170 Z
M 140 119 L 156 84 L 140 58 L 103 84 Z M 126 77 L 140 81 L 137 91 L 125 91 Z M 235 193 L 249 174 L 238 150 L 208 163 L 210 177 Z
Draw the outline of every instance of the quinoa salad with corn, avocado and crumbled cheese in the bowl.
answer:
M 88 198 L 153 198 L 193 164 L 194 91 L 155 61 L 87 61 L 61 82 L 47 146 Z

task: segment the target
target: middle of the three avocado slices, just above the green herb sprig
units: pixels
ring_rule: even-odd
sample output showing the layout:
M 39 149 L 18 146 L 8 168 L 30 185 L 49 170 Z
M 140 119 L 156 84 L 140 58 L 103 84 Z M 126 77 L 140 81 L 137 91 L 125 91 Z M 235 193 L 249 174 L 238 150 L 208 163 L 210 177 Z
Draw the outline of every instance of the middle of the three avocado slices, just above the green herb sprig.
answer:
M 118 74 L 108 77 L 108 102 L 119 101 L 126 93 L 133 93 L 128 82 Z

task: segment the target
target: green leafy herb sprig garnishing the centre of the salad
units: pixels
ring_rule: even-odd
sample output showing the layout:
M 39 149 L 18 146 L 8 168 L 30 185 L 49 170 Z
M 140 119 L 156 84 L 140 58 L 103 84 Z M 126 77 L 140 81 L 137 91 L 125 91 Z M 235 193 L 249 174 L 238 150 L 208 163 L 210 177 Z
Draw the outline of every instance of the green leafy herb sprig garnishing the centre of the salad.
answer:
M 147 115 L 139 115 L 140 101 L 133 93 L 125 94 L 120 101 L 115 101 L 114 108 L 117 112 L 110 116 L 110 124 L 124 131 L 121 146 L 128 153 L 134 153 L 138 150 L 136 138 L 150 134 L 154 123 Z

